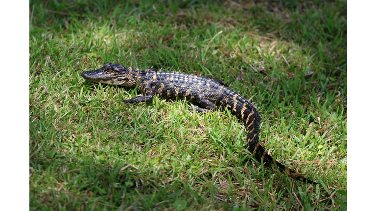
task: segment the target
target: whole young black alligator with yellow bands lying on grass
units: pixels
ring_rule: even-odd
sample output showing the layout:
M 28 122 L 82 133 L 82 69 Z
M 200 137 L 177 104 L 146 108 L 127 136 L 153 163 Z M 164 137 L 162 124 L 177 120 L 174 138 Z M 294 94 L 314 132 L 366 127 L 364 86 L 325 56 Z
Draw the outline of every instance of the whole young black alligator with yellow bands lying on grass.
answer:
M 186 98 L 188 101 L 198 102 L 195 109 L 199 112 L 213 111 L 218 109 L 215 105 L 226 106 L 238 115 L 244 122 L 247 130 L 248 149 L 254 154 L 259 162 L 269 168 L 277 168 L 285 172 L 289 177 L 302 182 L 317 184 L 303 177 L 303 174 L 295 173 L 282 163 L 273 160 L 258 142 L 258 127 L 260 115 L 255 106 L 243 96 L 226 87 L 226 84 L 211 77 L 201 77 L 179 72 L 157 72 L 156 69 L 132 69 L 121 64 L 105 63 L 102 68 L 83 71 L 81 76 L 89 81 L 103 84 L 114 84 L 128 87 L 137 85 L 145 95 L 131 100 L 122 100 L 124 103 L 139 103 L 151 101 L 155 94 L 162 97 Z

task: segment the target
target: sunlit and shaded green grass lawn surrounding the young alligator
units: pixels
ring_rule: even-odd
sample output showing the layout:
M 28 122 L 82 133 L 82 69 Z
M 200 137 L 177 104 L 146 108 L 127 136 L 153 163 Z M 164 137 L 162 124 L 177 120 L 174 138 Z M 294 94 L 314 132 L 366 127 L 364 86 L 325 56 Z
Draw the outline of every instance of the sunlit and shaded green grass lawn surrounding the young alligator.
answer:
M 341 210 L 347 190 L 347 2 L 31 1 L 30 210 Z M 260 112 L 263 168 L 227 109 L 124 105 L 106 62 L 224 80 Z M 343 191 L 345 190 L 345 191 Z

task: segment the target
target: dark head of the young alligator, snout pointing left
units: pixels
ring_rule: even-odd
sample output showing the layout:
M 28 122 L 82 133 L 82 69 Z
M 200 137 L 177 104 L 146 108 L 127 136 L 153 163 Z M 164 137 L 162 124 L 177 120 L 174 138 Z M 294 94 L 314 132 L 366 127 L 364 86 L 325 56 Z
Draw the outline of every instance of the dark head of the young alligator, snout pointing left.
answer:
M 139 73 L 139 74 L 137 74 Z M 102 84 L 114 84 L 122 86 L 135 87 L 140 81 L 140 71 L 133 70 L 130 67 L 124 67 L 122 64 L 105 63 L 102 68 L 83 71 L 81 76 L 84 79 Z

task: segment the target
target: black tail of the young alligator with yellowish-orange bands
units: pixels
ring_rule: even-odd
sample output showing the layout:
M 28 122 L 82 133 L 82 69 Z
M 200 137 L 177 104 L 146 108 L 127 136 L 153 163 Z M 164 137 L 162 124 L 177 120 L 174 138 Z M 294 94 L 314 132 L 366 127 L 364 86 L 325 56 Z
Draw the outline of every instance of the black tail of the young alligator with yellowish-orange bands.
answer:
M 275 165 L 277 164 L 278 169 L 283 173 L 285 172 L 289 177 L 297 179 L 302 182 L 307 182 L 310 184 L 318 184 L 313 182 L 309 179 L 303 177 L 305 174 L 299 174 L 295 171 L 285 167 L 282 163 L 275 161 L 260 145 L 258 142 L 258 127 L 260 124 L 260 114 L 258 113 L 255 106 L 253 106 L 250 102 L 248 102 L 244 97 L 235 93 L 233 96 L 229 96 L 227 98 L 227 107 L 232 109 L 239 117 L 241 117 L 244 126 L 247 130 L 247 143 L 248 149 L 252 154 L 254 154 L 255 158 L 264 166 L 275 169 Z M 229 104 L 232 106 L 229 106 Z

